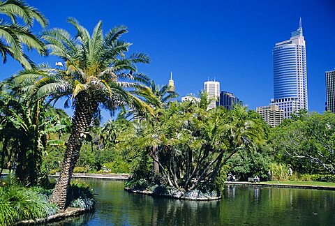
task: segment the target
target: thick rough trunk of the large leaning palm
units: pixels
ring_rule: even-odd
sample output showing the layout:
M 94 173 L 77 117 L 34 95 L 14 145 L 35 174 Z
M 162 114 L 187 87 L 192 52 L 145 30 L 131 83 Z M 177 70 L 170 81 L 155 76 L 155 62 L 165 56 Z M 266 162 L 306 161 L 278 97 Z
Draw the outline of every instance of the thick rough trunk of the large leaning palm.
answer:
M 87 93 L 79 93 L 75 98 L 75 112 L 72 119 L 71 133 L 68 138 L 65 156 L 61 166 L 61 174 L 59 175 L 51 197 L 51 201 L 57 204 L 61 210 L 64 210 L 66 207 L 66 196 L 73 169 L 80 154 L 84 133 L 89 128 L 97 107 L 98 103 L 89 98 Z

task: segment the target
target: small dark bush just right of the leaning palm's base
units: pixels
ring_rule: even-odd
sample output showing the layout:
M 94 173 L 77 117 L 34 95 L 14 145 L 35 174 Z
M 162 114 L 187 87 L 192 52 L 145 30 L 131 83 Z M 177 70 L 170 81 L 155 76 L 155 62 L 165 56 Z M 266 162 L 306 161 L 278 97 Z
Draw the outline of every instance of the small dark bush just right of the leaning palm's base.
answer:
M 93 189 L 90 189 L 84 181 L 72 181 L 67 198 L 69 206 L 86 210 L 94 209 L 95 199 L 92 192 Z

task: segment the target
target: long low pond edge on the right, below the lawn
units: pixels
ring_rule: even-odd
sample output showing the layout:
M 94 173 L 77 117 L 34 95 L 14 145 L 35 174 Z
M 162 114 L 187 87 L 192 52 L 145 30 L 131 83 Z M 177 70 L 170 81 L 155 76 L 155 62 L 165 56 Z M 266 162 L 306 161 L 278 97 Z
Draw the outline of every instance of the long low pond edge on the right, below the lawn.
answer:
M 299 184 L 281 184 L 281 183 L 251 183 L 244 181 L 225 182 L 225 184 L 236 184 L 240 186 L 264 186 L 264 187 L 276 187 L 276 188 L 301 188 L 301 189 L 317 189 L 317 190 L 335 190 L 335 187 L 331 186 L 311 186 L 311 185 L 299 185 Z

